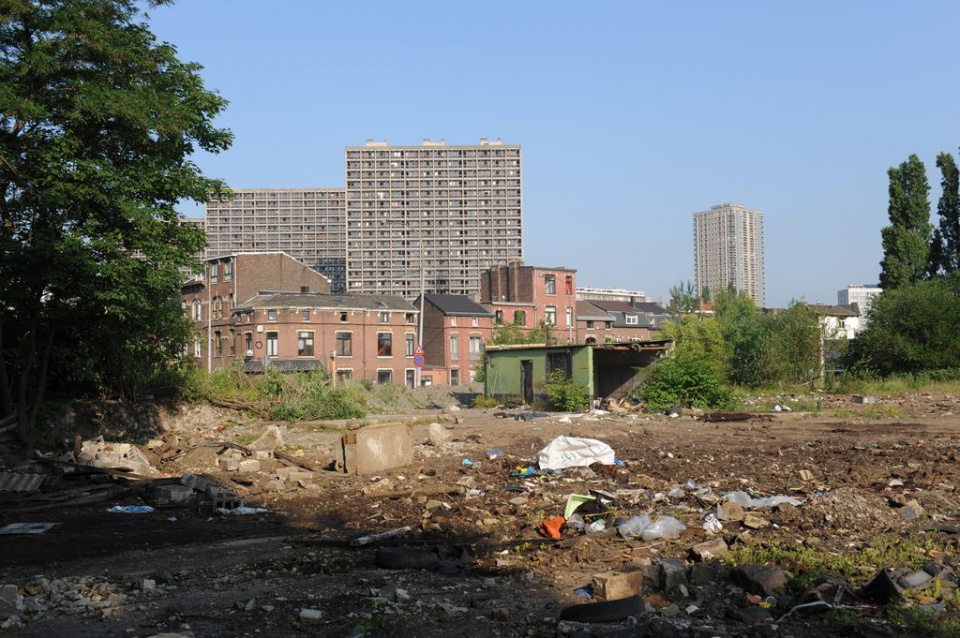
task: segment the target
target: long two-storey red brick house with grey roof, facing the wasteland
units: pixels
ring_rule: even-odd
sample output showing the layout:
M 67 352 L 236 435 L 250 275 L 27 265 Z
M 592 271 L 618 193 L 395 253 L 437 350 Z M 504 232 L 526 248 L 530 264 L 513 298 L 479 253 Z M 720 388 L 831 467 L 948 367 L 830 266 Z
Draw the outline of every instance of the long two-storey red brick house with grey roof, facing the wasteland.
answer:
M 265 293 L 233 314 L 247 372 L 324 368 L 340 383 L 415 384 L 419 313 L 402 297 Z

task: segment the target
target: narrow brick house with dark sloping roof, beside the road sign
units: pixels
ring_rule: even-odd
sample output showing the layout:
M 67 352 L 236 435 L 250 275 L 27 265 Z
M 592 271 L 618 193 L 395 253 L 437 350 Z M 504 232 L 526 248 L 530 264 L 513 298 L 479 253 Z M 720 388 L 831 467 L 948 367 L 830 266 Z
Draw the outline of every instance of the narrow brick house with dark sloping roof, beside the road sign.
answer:
M 420 307 L 420 298 L 414 302 Z M 490 339 L 493 313 L 465 295 L 424 295 L 422 382 L 461 385 L 475 380 Z

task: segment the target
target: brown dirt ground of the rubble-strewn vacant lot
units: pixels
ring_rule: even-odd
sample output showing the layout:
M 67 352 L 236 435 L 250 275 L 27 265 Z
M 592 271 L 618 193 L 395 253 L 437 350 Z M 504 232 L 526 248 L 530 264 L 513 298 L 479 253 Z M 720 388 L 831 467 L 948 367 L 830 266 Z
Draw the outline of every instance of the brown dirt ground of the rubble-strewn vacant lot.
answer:
M 21 608 L 2 633 L 916 635 L 888 613 L 887 601 L 838 594 L 818 600 L 840 611 L 794 610 L 810 600 L 805 588 L 833 587 L 832 595 L 846 585 L 805 580 L 789 566 L 782 567 L 791 583 L 772 598 L 751 596 L 752 584 L 710 560 L 693 568 L 691 548 L 709 540 L 722 539 L 731 550 L 804 547 L 828 554 L 865 551 L 881 536 L 911 531 L 946 544 L 948 551 L 930 557 L 941 575 L 954 567 L 960 400 L 915 394 L 857 403 L 828 396 L 820 413 L 800 411 L 812 401 L 771 399 L 751 406 L 754 416 L 747 420 L 705 422 L 689 413 L 451 409 L 456 398 L 438 395 L 432 402 L 437 407 L 370 417 L 412 425 L 414 463 L 361 477 L 325 469 L 342 433 L 357 423 L 282 425 L 277 449 L 287 462 L 261 455 L 261 469 L 243 474 L 218 466 L 230 450 L 223 443 L 246 447 L 271 424 L 210 407 L 190 410 L 164 419 L 163 430 L 154 433 L 166 449 L 178 451 L 175 458 L 161 463 L 158 444 L 143 446 L 160 472 L 153 480 L 73 473 L 51 477 L 40 491 L 0 493 L 0 527 L 55 523 L 40 534 L 0 535 L 0 586 L 16 586 Z M 794 409 L 774 412 L 774 404 Z M 431 423 L 440 423 L 449 440 L 431 443 Z M 534 454 L 560 435 L 599 439 L 620 462 L 512 476 L 533 467 Z M 0 469 L 13 467 L 8 460 Z M 284 468 L 301 474 L 280 482 L 277 471 Z M 179 484 L 183 475 L 229 488 L 265 511 L 215 513 L 199 488 L 185 503 L 159 504 L 157 486 Z M 582 534 L 570 525 L 562 540 L 538 534 L 542 521 L 564 514 L 570 494 L 591 490 L 602 498 L 582 511 L 587 520 L 603 519 L 608 531 Z M 790 496 L 800 504 L 748 509 L 746 521 L 735 515 L 721 531 L 706 531 L 705 517 L 733 491 Z M 601 501 L 606 505 L 596 508 Z M 108 511 L 143 504 L 154 511 Z M 676 517 L 686 530 L 676 539 L 649 541 L 616 533 L 617 519 L 643 513 Z M 410 529 L 381 542 L 350 544 L 403 527 Z M 402 548 L 406 566 L 385 567 L 384 556 L 398 551 L 385 547 Z M 416 568 L 418 561 L 429 568 Z M 680 566 L 683 587 L 665 576 L 669 565 Z M 636 613 L 607 623 L 560 620 L 572 605 L 598 604 L 577 590 L 611 572 L 642 574 Z M 865 570 L 848 589 L 872 576 Z M 941 601 L 954 582 L 941 580 L 937 593 L 908 596 L 907 604 L 928 603 L 934 622 L 946 626 L 955 620 L 954 607 Z M 844 622 L 838 614 L 845 614 Z

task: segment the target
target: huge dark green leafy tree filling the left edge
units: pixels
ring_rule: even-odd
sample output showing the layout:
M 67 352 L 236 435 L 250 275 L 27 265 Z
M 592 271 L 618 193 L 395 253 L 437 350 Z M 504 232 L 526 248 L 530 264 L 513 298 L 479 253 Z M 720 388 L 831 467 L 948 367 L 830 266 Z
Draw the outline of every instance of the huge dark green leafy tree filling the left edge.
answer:
M 204 240 L 174 205 L 222 195 L 188 158 L 231 135 L 141 6 L 0 0 L 0 411 L 26 442 L 48 379 L 135 391 L 188 334 Z

